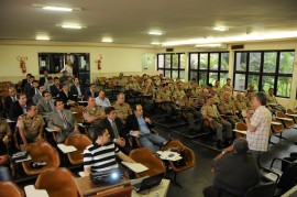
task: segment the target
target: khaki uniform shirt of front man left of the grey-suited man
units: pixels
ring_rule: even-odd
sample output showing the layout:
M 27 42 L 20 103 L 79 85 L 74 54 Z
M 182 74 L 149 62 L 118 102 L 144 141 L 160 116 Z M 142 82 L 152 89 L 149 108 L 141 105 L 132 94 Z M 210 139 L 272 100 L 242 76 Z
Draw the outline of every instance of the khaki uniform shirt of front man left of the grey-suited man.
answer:
M 16 127 L 23 128 L 26 139 L 36 138 L 43 132 L 45 123 L 41 114 L 31 118 L 29 114 L 23 114 L 19 118 Z

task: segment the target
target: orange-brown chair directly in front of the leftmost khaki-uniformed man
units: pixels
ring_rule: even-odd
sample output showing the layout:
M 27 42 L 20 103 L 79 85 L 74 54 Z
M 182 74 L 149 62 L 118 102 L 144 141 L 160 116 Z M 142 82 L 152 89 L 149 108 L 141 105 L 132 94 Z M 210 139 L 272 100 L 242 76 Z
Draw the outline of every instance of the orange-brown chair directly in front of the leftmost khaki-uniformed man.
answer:
M 36 175 L 51 168 L 57 168 L 59 166 L 58 152 L 46 141 L 31 143 L 26 146 L 31 161 L 23 162 L 23 168 L 28 175 Z M 31 163 L 45 162 L 41 168 L 32 168 Z

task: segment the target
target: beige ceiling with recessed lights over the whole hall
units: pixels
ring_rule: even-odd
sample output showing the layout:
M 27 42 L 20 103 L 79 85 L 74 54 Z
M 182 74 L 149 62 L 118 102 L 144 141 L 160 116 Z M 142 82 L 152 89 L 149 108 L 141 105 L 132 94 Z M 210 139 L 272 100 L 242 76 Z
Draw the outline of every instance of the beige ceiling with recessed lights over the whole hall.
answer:
M 80 8 L 80 11 L 45 11 L 32 4 Z M 189 39 L 228 37 L 261 32 L 297 32 L 296 0 L 1 0 L 0 41 L 151 45 Z M 81 24 L 81 30 L 61 28 Z M 226 26 L 219 32 L 213 26 Z M 163 35 L 148 35 L 151 30 Z M 48 41 L 46 41 L 48 42 Z

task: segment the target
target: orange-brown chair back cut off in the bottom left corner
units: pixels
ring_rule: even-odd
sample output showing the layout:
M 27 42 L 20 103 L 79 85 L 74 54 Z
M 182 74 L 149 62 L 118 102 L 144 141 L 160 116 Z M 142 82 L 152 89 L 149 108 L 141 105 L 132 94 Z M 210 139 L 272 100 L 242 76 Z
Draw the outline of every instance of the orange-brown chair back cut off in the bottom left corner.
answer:
M 0 182 L 1 197 L 24 197 L 24 191 L 13 182 Z

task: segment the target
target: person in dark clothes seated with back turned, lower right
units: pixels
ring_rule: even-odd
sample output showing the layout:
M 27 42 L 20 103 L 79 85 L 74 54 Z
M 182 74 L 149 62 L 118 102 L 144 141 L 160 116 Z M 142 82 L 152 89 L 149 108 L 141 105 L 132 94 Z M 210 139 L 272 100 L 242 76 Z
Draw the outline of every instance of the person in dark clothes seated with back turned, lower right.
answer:
M 233 145 L 213 158 L 213 186 L 204 189 L 205 197 L 243 196 L 250 187 L 260 183 L 256 162 L 248 151 L 246 140 L 237 139 Z

